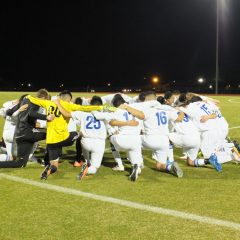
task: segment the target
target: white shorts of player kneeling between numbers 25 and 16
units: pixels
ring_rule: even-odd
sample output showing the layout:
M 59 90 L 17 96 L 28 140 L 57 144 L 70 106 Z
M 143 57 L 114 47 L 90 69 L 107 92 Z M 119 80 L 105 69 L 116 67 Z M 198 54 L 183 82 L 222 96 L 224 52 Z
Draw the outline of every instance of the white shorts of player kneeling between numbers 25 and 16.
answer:
M 112 135 L 110 137 L 111 143 L 117 151 L 124 151 L 128 153 L 131 164 L 141 165 L 142 157 L 142 141 L 140 135 Z

